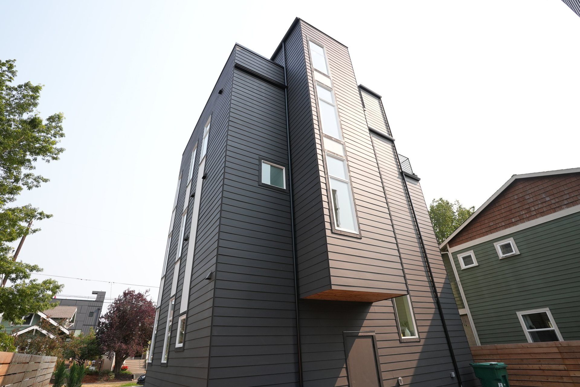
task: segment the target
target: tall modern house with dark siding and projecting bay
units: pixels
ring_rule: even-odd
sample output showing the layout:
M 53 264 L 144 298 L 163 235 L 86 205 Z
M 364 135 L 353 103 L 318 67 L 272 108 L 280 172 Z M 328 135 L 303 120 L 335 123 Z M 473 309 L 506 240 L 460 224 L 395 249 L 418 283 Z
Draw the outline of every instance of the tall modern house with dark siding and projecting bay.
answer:
M 183 152 L 146 386 L 473 386 L 419 178 L 345 45 L 235 45 Z

